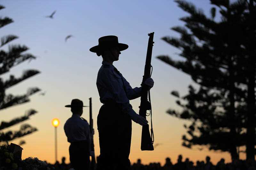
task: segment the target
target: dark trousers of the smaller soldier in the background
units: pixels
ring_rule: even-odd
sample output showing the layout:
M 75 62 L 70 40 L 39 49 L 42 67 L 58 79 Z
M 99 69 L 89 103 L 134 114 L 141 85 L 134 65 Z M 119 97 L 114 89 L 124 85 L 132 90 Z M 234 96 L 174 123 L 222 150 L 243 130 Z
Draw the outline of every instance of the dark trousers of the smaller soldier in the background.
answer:
M 73 142 L 69 146 L 71 167 L 75 170 L 89 170 L 90 152 L 88 141 Z

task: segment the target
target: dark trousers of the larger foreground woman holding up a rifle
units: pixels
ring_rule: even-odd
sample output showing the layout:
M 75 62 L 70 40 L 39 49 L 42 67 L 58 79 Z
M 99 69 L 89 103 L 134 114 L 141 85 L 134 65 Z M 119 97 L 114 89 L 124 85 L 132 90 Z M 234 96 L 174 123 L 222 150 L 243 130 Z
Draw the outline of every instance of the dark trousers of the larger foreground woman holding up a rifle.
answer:
M 116 103 L 100 107 L 97 119 L 100 156 L 98 170 L 130 169 L 132 120 Z

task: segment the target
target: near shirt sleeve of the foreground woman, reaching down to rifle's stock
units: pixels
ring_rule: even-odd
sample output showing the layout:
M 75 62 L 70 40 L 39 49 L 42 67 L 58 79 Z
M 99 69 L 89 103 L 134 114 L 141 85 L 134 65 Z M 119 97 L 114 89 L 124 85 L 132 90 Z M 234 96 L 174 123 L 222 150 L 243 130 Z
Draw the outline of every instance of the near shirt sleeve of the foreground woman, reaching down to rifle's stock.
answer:
M 131 117 L 136 114 L 136 112 L 132 109 L 132 105 L 129 103 L 129 99 L 126 96 L 126 93 L 123 88 L 123 83 L 120 83 L 120 80 L 118 81 L 118 78 L 114 75 L 112 70 L 109 68 L 105 68 L 102 70 L 100 78 L 102 80 L 102 83 L 104 83 L 105 87 L 112 93 L 114 96 L 114 100 L 116 103 L 119 104 L 121 107 L 122 112 L 127 113 Z

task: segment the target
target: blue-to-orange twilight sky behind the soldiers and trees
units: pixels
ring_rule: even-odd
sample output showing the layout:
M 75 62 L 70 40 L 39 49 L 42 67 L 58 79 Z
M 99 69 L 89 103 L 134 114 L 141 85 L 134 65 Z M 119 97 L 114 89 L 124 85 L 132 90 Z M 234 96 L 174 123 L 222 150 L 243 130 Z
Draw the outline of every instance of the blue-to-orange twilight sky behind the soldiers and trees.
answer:
M 211 5 L 208 0 L 190 0 L 190 2 L 210 15 Z M 36 127 L 38 131 L 21 138 L 26 141 L 26 144 L 22 145 L 24 149 L 22 159 L 30 156 L 50 163 L 55 162 L 54 127 L 51 121 L 53 118 L 58 118 L 60 125 L 57 128 L 57 159 L 61 161 L 65 156 L 66 163 L 69 163 L 69 143 L 63 126 L 72 113 L 64 106 L 75 98 L 83 100 L 84 105 L 89 105 L 90 97 L 92 97 L 95 129 L 95 155 L 98 156 L 100 148 L 96 122 L 102 104 L 96 87 L 96 77 L 102 58 L 90 52 L 89 48 L 98 45 L 98 39 L 105 35 L 116 35 L 120 43 L 128 44 L 129 48 L 121 52 L 119 61 L 114 62 L 114 65 L 132 87 L 137 87 L 141 84 L 144 72 L 148 33 L 155 32 L 151 61 L 155 84 L 150 94 L 154 144 L 159 145 L 154 151 L 141 151 L 141 126 L 132 122 L 131 162 L 134 163 L 140 158 L 143 164 L 160 162 L 163 165 L 165 158 L 169 157 L 173 163 L 176 163 L 179 154 L 183 155 L 183 160 L 189 158 L 194 162 L 205 160 L 207 155 L 214 164 L 221 158 L 230 162 L 230 155 L 227 152 L 213 152 L 208 149 L 199 151 L 198 147 L 188 149 L 181 146 L 181 137 L 186 133 L 183 125 L 189 122 L 166 113 L 168 108 L 180 110 L 175 104 L 175 97 L 170 95 L 170 92 L 177 90 L 181 96 L 185 95 L 188 92 L 188 85 L 193 84 L 187 74 L 156 58 L 158 55 L 169 55 L 174 59 L 182 60 L 177 55 L 178 49 L 161 40 L 164 36 L 179 37 L 179 34 L 170 28 L 183 26 L 184 23 L 179 18 L 188 16 L 173 0 L 23 0 L 1 1 L 1 4 L 6 8 L 0 11 L 0 16 L 8 16 L 14 20 L 12 24 L 1 28 L 1 36 L 8 34 L 19 36 L 19 39 L 12 44 L 28 46 L 27 52 L 37 57 L 30 63 L 25 62 L 14 67 L 2 78 L 7 78 L 10 74 L 19 77 L 26 69 L 36 69 L 41 72 L 13 86 L 6 93 L 23 94 L 28 87 L 35 86 L 46 92 L 44 96 L 38 93 L 33 95 L 29 103 L 1 110 L 2 121 L 10 121 L 13 117 L 24 115 L 30 108 L 38 111 L 24 122 Z M 55 10 L 53 19 L 45 17 Z M 64 39 L 69 34 L 73 37 L 65 42 Z M 8 46 L 3 49 L 7 48 Z M 140 98 L 131 100 L 130 103 L 138 113 Z M 89 121 L 88 107 L 84 108 L 82 117 Z M 19 128 L 20 124 L 6 130 Z M 21 139 L 13 140 L 12 143 L 19 144 Z M 240 158 L 244 159 L 244 154 L 240 154 Z

